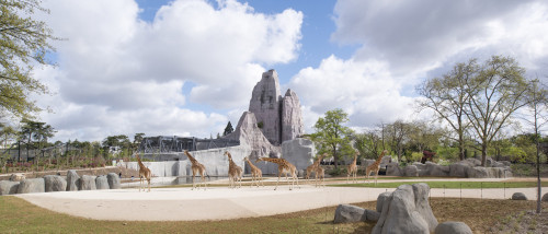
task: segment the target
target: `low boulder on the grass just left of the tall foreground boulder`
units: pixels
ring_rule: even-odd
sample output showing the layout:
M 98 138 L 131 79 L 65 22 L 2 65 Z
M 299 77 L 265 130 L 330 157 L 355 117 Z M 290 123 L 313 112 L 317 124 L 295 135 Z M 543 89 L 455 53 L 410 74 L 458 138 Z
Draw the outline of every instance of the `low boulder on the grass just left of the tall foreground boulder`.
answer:
M 334 223 L 352 223 L 377 221 L 380 213 L 352 204 L 339 204 L 335 210 Z

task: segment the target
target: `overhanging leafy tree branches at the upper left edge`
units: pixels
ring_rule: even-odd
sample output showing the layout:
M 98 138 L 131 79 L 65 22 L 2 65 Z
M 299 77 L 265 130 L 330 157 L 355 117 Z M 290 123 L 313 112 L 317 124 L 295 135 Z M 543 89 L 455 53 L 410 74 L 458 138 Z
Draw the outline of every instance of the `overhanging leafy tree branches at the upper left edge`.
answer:
M 41 108 L 30 93 L 46 94 L 47 87 L 32 77 L 33 65 L 50 65 L 49 40 L 59 39 L 34 12 L 49 13 L 39 0 L 0 1 L 0 112 L 28 118 Z

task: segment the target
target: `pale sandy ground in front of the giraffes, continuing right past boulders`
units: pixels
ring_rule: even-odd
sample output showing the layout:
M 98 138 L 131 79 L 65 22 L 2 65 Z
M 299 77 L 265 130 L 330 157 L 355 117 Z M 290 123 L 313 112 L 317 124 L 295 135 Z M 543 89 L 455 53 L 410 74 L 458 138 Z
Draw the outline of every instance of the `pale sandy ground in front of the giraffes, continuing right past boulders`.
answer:
M 379 194 L 392 190 L 395 189 L 316 188 L 310 185 L 289 190 L 284 185 L 277 190 L 273 186 L 246 186 L 240 189 L 208 187 L 206 190 L 191 190 L 187 187 L 152 188 L 151 192 L 139 192 L 138 189 L 130 188 L 14 196 L 53 211 L 94 220 L 193 221 L 273 215 L 340 203 L 373 201 Z M 546 192 L 548 188 L 543 190 Z M 536 199 L 536 188 L 432 189 L 431 197 L 509 199 L 516 191 Z

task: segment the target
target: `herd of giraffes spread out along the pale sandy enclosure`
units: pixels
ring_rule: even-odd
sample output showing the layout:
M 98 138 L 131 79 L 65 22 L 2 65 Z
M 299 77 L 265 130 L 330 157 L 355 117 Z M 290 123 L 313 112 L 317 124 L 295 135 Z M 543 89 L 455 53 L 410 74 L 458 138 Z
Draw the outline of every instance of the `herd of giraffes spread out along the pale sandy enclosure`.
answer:
M 380 162 L 383 161 L 383 156 L 388 151 L 384 150 L 380 153 L 380 155 L 377 157 L 377 160 L 373 164 L 368 165 L 365 168 L 364 183 L 365 183 L 365 179 L 367 179 L 367 183 L 369 183 L 369 176 L 372 173 L 374 173 L 375 185 L 377 185 L 377 177 L 378 177 L 378 172 L 380 169 Z M 191 164 L 192 164 L 192 166 L 191 166 L 191 169 L 192 169 L 192 189 L 193 190 L 194 190 L 194 188 L 199 189 L 201 185 L 203 185 L 204 189 L 206 189 L 207 183 L 205 183 L 205 176 L 209 177 L 206 173 L 206 167 L 204 166 L 204 164 L 201 164 L 194 156 L 192 156 L 192 154 L 189 151 L 185 150 L 184 154 L 189 157 L 189 160 L 191 161 Z M 228 151 L 226 151 L 224 155 L 228 157 L 228 184 L 229 184 L 229 187 L 230 188 L 241 188 L 241 179 L 243 177 L 243 169 L 232 161 L 232 155 Z M 320 163 L 323 160 L 323 157 L 326 157 L 327 155 L 328 155 L 327 153 L 319 155 L 318 159 L 311 165 L 309 165 L 306 169 L 305 180 L 309 180 L 310 175 L 313 173 L 316 187 L 326 186 L 324 185 L 324 169 L 323 169 L 323 167 L 320 166 Z M 347 166 L 347 169 L 346 169 L 346 172 L 347 172 L 346 183 L 349 183 L 351 176 L 352 176 L 352 182 L 356 183 L 356 178 L 357 178 L 356 161 L 357 161 L 358 155 L 359 155 L 359 152 L 356 150 L 355 154 L 354 154 L 354 160 Z M 150 169 L 148 167 L 145 166 L 145 164 L 142 164 L 138 154 L 136 155 L 136 157 L 137 157 L 137 162 L 139 165 L 139 191 L 141 189 L 141 187 L 142 187 L 144 191 L 146 190 L 145 179 L 148 182 L 148 191 L 150 191 L 150 178 L 152 176 L 152 173 L 150 172 Z M 261 169 L 259 167 L 256 167 L 255 165 L 253 165 L 253 163 L 251 163 L 251 161 L 249 160 L 248 156 L 246 156 L 243 159 L 243 161 L 247 162 L 251 168 L 251 186 L 253 186 L 253 183 L 254 183 L 254 184 L 256 184 L 256 187 L 259 187 L 259 182 L 261 182 L 262 186 L 264 187 Z M 277 177 L 276 187 L 274 188 L 274 190 L 277 189 L 279 178 L 282 177 L 283 174 L 285 174 L 285 177 L 287 180 L 289 180 L 289 178 L 288 178 L 289 176 L 292 177 L 292 185 L 289 186 L 289 190 L 293 190 L 293 188 L 295 187 L 295 183 L 297 183 L 297 186 L 300 188 L 299 179 L 297 176 L 297 168 L 295 167 L 295 165 L 289 163 L 287 160 L 259 157 L 255 161 L 255 163 L 261 162 L 261 161 L 271 162 L 271 163 L 275 163 L 278 165 L 278 177 Z M 197 186 L 194 183 L 194 178 L 196 175 L 202 177 L 201 184 L 198 184 Z M 239 185 L 238 185 L 238 183 L 239 183 Z

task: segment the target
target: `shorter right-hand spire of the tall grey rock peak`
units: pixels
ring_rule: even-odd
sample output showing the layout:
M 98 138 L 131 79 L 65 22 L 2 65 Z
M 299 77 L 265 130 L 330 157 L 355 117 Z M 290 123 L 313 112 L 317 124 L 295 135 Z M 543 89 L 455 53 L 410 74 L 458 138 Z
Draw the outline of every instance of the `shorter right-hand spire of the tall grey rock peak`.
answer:
M 287 90 L 282 98 L 282 142 L 305 133 L 300 101 L 295 92 Z

